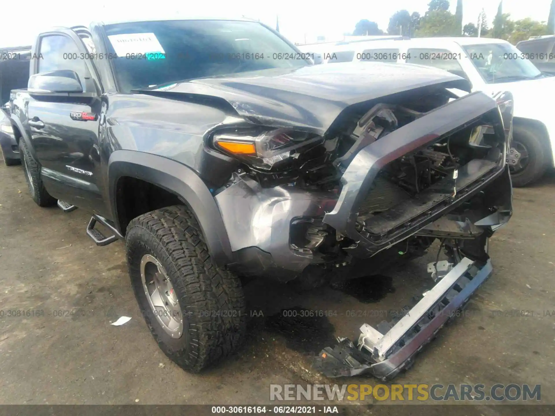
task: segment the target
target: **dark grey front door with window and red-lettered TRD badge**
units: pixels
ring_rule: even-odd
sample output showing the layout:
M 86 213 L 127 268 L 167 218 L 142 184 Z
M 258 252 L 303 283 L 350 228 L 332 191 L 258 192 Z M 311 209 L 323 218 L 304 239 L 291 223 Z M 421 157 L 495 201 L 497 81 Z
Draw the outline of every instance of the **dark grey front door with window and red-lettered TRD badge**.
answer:
M 90 60 L 84 59 L 88 58 L 87 49 L 77 34 L 44 33 L 37 40 L 36 49 L 34 73 L 74 70 L 83 90 L 90 89 L 94 68 Z M 98 214 L 105 210 L 99 189 L 101 106 L 99 99 L 32 96 L 27 115 L 33 148 L 49 194 Z

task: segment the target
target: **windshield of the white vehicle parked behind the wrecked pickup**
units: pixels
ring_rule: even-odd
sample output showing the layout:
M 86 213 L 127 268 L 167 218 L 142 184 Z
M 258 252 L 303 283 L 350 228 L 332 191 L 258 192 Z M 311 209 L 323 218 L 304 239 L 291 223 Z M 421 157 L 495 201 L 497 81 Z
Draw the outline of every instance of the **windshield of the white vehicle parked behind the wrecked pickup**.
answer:
M 463 49 L 488 84 L 542 77 L 538 68 L 509 43 L 465 45 Z

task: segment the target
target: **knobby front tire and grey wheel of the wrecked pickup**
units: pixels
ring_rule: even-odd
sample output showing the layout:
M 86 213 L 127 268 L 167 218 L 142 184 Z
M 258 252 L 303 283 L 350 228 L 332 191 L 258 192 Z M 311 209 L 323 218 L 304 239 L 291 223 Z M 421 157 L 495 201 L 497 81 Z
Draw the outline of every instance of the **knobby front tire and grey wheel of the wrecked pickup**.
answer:
M 166 356 L 199 372 L 240 346 L 246 328 L 241 282 L 211 260 L 187 207 L 135 218 L 125 245 L 135 297 Z

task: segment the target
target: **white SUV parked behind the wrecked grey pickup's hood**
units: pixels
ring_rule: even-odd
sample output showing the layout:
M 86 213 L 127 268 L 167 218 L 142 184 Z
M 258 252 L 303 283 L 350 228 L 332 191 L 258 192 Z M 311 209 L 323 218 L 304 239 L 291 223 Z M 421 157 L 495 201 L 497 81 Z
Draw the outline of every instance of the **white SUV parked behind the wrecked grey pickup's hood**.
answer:
M 309 46 L 299 45 L 307 52 Z M 555 160 L 555 120 L 546 92 L 555 78 L 542 74 L 513 45 L 489 38 L 415 38 L 337 45 L 326 51 L 356 62 L 412 63 L 440 68 L 469 80 L 472 91 L 513 94 L 514 131 L 509 153 L 514 186 L 531 184 Z M 331 60 L 330 62 L 334 62 Z

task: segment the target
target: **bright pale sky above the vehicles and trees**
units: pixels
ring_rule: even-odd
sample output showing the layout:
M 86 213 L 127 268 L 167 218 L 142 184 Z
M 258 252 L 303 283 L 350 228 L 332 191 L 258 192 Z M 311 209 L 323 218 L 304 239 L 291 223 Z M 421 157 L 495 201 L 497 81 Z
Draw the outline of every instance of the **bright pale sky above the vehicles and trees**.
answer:
M 249 17 L 275 27 L 279 17 L 280 32 L 292 42 L 315 42 L 317 36 L 326 40 L 340 40 L 352 32 L 360 19 L 377 22 L 387 29 L 389 18 L 398 10 L 423 15 L 430 0 L 210 0 L 205 2 L 183 0 L 156 0 L 155 2 L 129 0 L 27 0 L 25 7 L 18 1 L 3 1 L 0 6 L 0 47 L 29 45 L 37 33 L 53 26 L 88 26 L 91 21 L 119 21 L 142 18 L 176 18 L 189 16 Z M 511 13 L 514 20 L 530 17 L 547 21 L 551 0 L 503 0 L 503 13 Z M 493 22 L 499 0 L 463 0 L 463 24 L 476 24 L 483 8 L 488 23 Z M 155 8 L 155 9 L 154 9 Z M 450 11 L 455 13 L 456 0 Z M 25 11 L 31 13 L 25 13 Z

